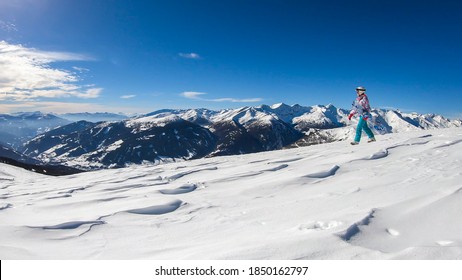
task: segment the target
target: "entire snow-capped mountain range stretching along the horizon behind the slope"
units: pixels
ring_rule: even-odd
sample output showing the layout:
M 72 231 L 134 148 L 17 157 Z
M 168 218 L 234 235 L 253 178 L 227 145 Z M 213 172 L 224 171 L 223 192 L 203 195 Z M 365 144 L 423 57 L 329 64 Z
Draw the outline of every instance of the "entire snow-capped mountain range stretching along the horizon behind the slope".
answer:
M 85 170 L 123 167 L 145 161 L 246 154 L 345 140 L 351 138 L 356 124 L 355 120 L 348 120 L 348 113 L 333 105 L 275 104 L 220 111 L 165 109 L 136 118 L 96 123 L 71 123 L 36 113 L 35 120 L 27 122 L 28 127 L 35 129 L 35 137 L 30 137 L 33 133 L 29 131 L 28 137 L 19 137 L 10 146 L 28 158 L 46 163 Z M 461 120 L 451 121 L 434 114 L 382 109 L 372 114 L 382 124 L 380 133 L 462 126 Z M 39 125 L 45 116 L 49 125 Z M 2 115 L 0 123 L 2 117 L 8 122 Z M 18 144 L 20 141 L 22 145 Z

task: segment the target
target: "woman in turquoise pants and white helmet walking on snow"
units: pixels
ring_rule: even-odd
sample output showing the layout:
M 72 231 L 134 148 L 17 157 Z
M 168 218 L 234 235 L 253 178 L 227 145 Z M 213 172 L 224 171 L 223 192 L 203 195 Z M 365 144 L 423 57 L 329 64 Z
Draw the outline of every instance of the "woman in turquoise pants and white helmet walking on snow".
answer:
M 372 118 L 372 115 L 371 105 L 369 104 L 369 99 L 366 95 L 366 89 L 364 87 L 357 87 L 356 94 L 358 97 L 353 102 L 353 108 L 351 109 L 351 112 L 348 115 L 348 120 L 351 120 L 351 118 L 356 114 L 359 115 L 358 126 L 356 127 L 356 137 L 355 140 L 351 142 L 351 145 L 359 144 L 359 141 L 361 141 L 361 134 L 363 130 L 369 137 L 369 140 L 367 142 L 374 142 L 374 133 L 372 133 L 371 129 L 367 125 L 367 120 Z

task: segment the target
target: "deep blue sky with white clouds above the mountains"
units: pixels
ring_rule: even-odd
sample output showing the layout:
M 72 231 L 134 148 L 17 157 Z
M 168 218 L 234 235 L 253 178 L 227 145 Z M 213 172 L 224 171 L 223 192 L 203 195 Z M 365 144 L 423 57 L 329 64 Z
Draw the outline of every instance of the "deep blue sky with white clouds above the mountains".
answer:
M 462 117 L 461 1 L 0 1 L 0 112 L 373 107 Z

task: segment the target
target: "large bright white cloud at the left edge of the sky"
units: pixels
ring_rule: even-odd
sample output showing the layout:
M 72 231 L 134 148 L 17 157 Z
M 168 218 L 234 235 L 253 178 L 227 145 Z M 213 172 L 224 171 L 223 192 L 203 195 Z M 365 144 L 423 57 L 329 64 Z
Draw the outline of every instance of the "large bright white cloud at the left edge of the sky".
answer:
M 0 41 L 0 100 L 97 98 L 102 88 L 79 85 L 80 79 L 74 73 L 50 65 L 59 61 L 88 60 L 92 58 L 82 54 L 42 51 Z

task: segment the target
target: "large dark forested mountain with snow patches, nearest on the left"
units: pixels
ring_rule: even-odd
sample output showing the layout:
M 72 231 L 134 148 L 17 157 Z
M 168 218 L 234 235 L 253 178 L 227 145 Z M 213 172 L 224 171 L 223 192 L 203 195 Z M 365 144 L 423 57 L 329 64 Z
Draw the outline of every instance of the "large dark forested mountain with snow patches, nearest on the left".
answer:
M 23 153 L 44 162 L 82 169 L 123 167 L 163 158 L 194 159 L 216 143 L 207 129 L 180 118 L 140 118 L 122 122 L 72 123 L 37 136 Z

